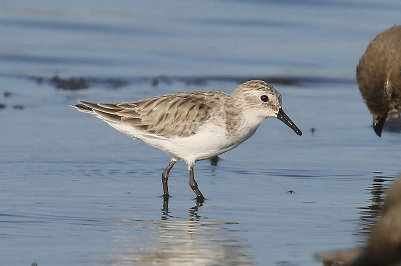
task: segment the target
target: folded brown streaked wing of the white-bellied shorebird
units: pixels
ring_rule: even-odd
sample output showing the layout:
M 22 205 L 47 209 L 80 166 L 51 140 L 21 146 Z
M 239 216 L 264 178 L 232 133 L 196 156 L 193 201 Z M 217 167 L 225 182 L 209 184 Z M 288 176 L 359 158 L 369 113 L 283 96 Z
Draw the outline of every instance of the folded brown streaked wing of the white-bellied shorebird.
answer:
M 221 114 L 223 92 L 184 92 L 128 103 L 116 114 L 121 121 L 159 136 L 189 136 L 213 115 Z

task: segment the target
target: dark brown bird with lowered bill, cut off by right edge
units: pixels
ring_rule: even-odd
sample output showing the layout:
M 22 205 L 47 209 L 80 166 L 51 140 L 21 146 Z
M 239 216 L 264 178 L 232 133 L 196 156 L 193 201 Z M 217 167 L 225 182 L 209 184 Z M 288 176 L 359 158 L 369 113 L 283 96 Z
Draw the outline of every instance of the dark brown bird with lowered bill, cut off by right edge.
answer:
M 401 112 L 401 25 L 380 32 L 356 67 L 360 93 L 373 115 L 378 136 L 385 119 Z

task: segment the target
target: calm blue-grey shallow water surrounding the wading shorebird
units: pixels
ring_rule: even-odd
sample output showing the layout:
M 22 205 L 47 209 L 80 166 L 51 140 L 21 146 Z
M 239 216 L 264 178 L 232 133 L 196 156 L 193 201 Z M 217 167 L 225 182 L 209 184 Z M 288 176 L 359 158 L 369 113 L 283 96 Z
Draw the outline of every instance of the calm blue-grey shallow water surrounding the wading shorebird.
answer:
M 310 266 L 363 244 L 401 135 L 375 135 L 355 67 L 400 13 L 399 0 L 3 0 L 0 264 Z M 269 118 L 218 165 L 197 162 L 200 207 L 178 162 L 168 213 L 170 156 L 68 106 L 252 78 L 304 134 Z

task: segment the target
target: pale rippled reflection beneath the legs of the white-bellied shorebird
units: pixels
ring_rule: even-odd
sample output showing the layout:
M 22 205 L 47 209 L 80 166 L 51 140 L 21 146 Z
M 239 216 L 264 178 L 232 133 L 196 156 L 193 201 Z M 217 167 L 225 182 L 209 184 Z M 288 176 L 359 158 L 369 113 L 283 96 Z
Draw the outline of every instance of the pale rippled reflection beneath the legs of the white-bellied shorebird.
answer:
M 126 244 L 113 265 L 255 265 L 249 247 L 235 234 L 236 222 L 210 221 L 199 215 L 202 203 L 189 208 L 188 218 L 174 217 L 163 201 L 162 217 L 141 224 L 149 237 Z M 156 237 L 154 237 L 156 236 Z

